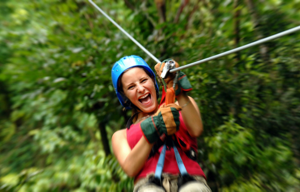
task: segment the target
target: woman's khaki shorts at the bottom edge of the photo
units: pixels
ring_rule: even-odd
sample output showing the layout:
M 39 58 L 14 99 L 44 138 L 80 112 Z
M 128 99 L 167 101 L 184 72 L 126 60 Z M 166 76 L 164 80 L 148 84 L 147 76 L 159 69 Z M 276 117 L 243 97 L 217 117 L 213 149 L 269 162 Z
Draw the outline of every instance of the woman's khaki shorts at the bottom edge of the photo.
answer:
M 150 178 L 153 176 L 154 174 L 150 174 L 143 179 L 139 179 L 134 185 L 134 192 L 211 192 L 211 189 L 208 187 L 205 178 L 202 176 L 192 176 L 195 180 L 186 182 L 179 188 L 179 190 L 177 186 L 179 175 L 163 173 L 163 188 L 149 182 Z

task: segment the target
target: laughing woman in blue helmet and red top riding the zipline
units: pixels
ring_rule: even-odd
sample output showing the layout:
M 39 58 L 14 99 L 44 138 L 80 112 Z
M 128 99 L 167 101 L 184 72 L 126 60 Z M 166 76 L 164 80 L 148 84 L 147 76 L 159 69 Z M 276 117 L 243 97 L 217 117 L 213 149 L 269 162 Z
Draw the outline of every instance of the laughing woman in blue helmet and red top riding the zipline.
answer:
M 161 74 L 162 64 L 158 63 L 155 67 L 158 74 Z M 157 102 L 158 85 L 155 73 L 138 56 L 126 56 L 116 62 L 112 69 L 112 80 L 119 101 L 125 108 L 131 108 L 133 113 L 133 124 L 113 134 L 112 147 L 125 173 L 135 177 L 134 191 L 211 191 L 199 164 L 189 158 L 188 152 L 180 147 L 177 149 L 187 172 L 192 177 L 191 181 L 181 182 L 181 185 L 178 185 L 180 172 L 174 150 L 171 148 L 165 154 L 161 185 L 152 182 L 162 148 L 157 145 L 161 142 L 161 135 L 176 133 L 176 138 L 179 138 L 177 143 L 182 139 L 183 143 L 191 146 L 190 149 L 196 150 L 196 137 L 202 133 L 203 128 L 195 101 L 185 92 L 176 91 L 178 93 L 176 104 L 164 105 L 163 100 L 160 107 Z M 173 84 L 173 78 L 169 78 L 166 83 Z M 163 120 L 166 116 L 180 123 L 169 125 Z M 178 129 L 180 134 L 179 131 L 176 132 Z M 158 149 L 153 152 L 155 146 Z

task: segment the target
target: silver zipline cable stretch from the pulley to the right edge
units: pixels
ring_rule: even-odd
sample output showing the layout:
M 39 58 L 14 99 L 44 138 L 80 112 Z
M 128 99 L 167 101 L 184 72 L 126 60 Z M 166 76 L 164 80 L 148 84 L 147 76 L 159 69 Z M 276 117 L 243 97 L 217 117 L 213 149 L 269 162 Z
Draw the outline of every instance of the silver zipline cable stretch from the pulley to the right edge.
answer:
M 186 64 L 186 65 L 183 65 L 181 67 L 177 67 L 175 69 L 171 69 L 170 72 L 173 73 L 173 72 L 176 72 L 176 71 L 179 71 L 179 70 L 182 70 L 182 69 L 185 69 L 185 68 L 188 68 L 188 67 L 192 67 L 196 64 L 200 64 L 200 63 L 204 63 L 204 62 L 207 62 L 207 61 L 211 61 L 213 59 L 217 59 L 219 57 L 222 57 L 222 56 L 225 56 L 225 55 L 229 55 L 231 53 L 235 53 L 235 52 L 238 52 L 240 50 L 244 50 L 244 49 L 247 49 L 249 47 L 252 47 L 252 46 L 255 46 L 255 45 L 258 45 L 258 44 L 261 44 L 261 43 L 264 43 L 264 42 L 267 42 L 267 41 L 270 41 L 270 40 L 273 40 L 273 39 L 276 39 L 278 37 L 281 37 L 281 36 L 284 36 L 284 35 L 287 35 L 287 34 L 290 34 L 290 33 L 294 33 L 296 31 L 300 30 L 300 25 L 298 27 L 294 27 L 294 28 L 291 28 L 289 30 L 286 30 L 286 31 L 283 31 L 283 32 L 280 32 L 280 33 L 277 33 L 275 35 L 272 35 L 272 36 L 269 36 L 269 37 L 266 37 L 264 39 L 260 39 L 258 41 L 255 41 L 255 42 L 252 42 L 252 43 L 249 43 L 249 44 L 246 44 L 246 45 L 243 45 L 241 47 L 237 47 L 235 49 L 232 49 L 232 50 L 229 50 L 229 51 L 226 51 L 224 53 L 220 53 L 220 54 L 217 54 L 215 56 L 211 56 L 211 57 L 208 57 L 206 59 L 202 59 L 202 60 L 199 60 L 199 61 L 196 61 L 196 62 L 193 62 L 193 63 L 190 63 L 190 64 Z

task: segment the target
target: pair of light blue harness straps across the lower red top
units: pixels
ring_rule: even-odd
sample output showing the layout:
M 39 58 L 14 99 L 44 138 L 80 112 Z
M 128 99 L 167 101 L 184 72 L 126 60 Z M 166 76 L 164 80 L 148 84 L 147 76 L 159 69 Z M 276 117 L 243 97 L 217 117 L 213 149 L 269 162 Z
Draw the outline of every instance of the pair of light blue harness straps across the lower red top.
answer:
M 157 165 L 156 165 L 155 174 L 154 174 L 155 179 L 161 180 L 161 174 L 163 172 L 165 156 L 166 156 L 166 148 L 167 148 L 167 146 L 166 146 L 166 144 L 164 144 L 163 149 L 161 150 L 161 154 L 159 155 Z M 180 157 L 180 154 L 179 154 L 174 142 L 173 142 L 173 149 L 174 149 L 175 158 L 176 158 L 176 162 L 177 162 L 177 166 L 179 168 L 180 174 L 182 176 L 188 175 L 187 170 L 182 162 L 182 159 Z

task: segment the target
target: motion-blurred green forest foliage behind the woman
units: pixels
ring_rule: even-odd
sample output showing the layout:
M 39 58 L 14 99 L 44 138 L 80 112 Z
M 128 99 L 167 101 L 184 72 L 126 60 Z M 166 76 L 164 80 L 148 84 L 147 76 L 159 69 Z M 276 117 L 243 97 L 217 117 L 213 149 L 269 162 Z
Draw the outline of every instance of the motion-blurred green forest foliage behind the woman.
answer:
M 95 0 L 180 65 L 300 25 L 299 0 Z M 156 64 L 87 0 L 0 1 L 0 191 L 132 191 L 111 150 L 110 70 Z M 300 191 L 300 32 L 190 67 L 213 191 Z

